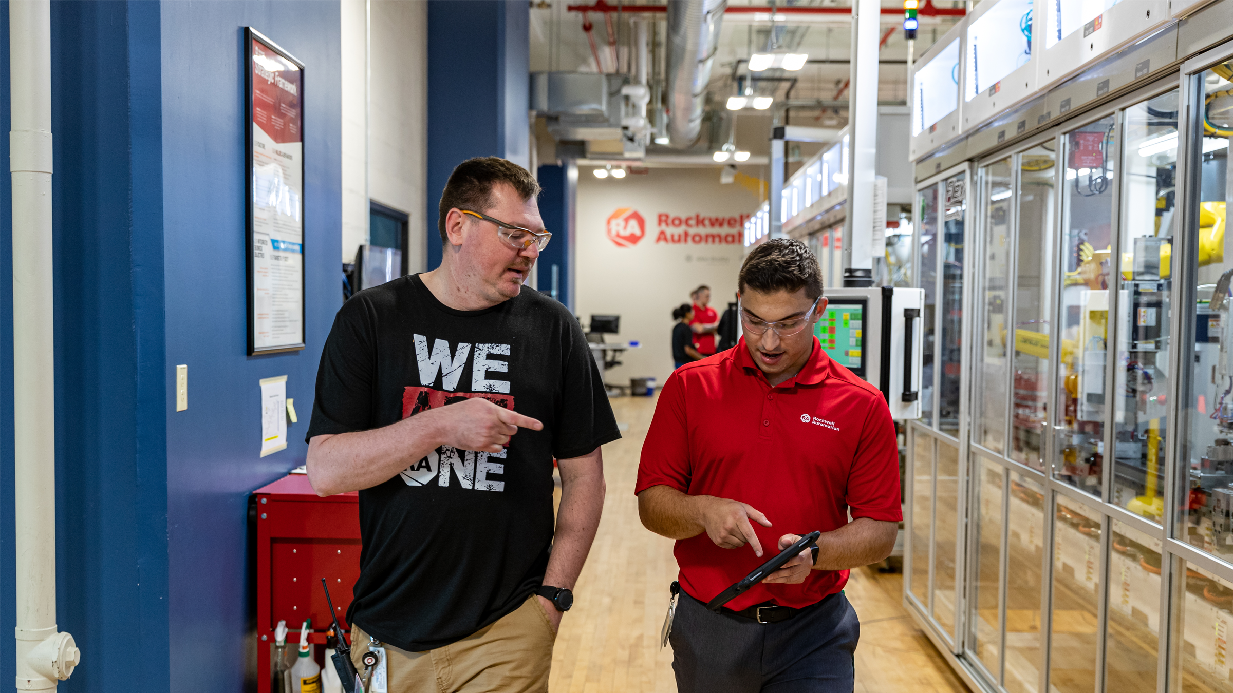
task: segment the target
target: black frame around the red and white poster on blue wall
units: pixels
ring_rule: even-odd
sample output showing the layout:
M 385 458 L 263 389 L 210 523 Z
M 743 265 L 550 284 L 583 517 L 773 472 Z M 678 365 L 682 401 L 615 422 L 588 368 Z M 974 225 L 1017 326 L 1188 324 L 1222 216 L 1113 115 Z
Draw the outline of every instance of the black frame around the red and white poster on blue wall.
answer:
M 256 270 L 253 261 L 253 247 L 254 247 L 254 165 L 253 165 L 253 42 L 259 41 L 270 52 L 276 53 L 280 58 L 293 63 L 300 68 L 300 142 L 301 142 L 301 155 L 300 155 L 300 213 L 301 213 L 301 271 L 300 271 L 300 335 L 301 340 L 295 344 L 280 344 L 276 346 L 256 346 L 256 311 L 255 311 L 255 281 L 254 273 Z M 255 28 L 247 26 L 244 27 L 244 265 L 245 265 L 245 284 L 247 284 L 247 306 L 245 312 L 248 313 L 248 355 L 256 356 L 260 354 L 279 354 L 285 351 L 300 351 L 307 346 L 307 307 L 306 307 L 306 292 L 305 292 L 305 275 L 308 270 L 306 260 L 307 245 L 307 205 L 305 203 L 305 189 L 307 187 L 307 180 L 305 178 L 305 154 L 306 154 L 306 137 L 305 137 L 305 64 L 296 59 L 295 55 L 285 51 L 281 46 L 270 41 L 265 35 L 256 31 Z

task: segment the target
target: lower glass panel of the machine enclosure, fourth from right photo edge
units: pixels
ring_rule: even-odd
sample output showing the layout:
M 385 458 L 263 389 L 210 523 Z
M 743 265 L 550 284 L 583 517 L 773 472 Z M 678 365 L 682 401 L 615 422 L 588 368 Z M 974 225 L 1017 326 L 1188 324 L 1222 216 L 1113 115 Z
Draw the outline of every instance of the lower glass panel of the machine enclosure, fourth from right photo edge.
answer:
M 1006 503 L 1006 671 L 1007 693 L 1041 689 L 1041 592 L 1044 565 L 1044 488 L 1012 472 Z

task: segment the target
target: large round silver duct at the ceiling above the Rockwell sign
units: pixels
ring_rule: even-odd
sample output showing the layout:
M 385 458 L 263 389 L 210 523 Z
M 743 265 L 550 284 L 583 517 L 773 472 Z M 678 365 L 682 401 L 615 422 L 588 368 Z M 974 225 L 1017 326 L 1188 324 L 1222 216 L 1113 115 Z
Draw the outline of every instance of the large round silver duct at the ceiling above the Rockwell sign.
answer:
M 702 129 L 703 101 L 727 0 L 668 0 L 668 143 L 686 149 Z

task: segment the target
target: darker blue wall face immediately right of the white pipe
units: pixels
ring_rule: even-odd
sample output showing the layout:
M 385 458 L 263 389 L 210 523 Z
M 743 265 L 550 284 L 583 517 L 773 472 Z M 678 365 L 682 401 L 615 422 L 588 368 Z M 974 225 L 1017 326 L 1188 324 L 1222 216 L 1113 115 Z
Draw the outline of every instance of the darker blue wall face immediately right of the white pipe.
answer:
M 52 6 L 57 607 L 84 652 L 65 691 L 169 684 L 158 26 L 153 0 Z

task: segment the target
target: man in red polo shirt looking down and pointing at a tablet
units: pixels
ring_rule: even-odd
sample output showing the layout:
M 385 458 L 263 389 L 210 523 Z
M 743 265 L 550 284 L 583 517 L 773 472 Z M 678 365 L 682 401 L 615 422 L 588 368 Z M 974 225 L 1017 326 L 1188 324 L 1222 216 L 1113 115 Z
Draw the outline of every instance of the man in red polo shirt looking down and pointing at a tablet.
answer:
M 642 524 L 677 540 L 677 688 L 851 693 L 861 626 L 841 591 L 890 555 L 901 519 L 890 411 L 814 338 L 826 298 L 804 243 L 753 249 L 739 287 L 742 339 L 668 377 L 637 472 Z M 816 550 L 707 610 L 815 529 Z

